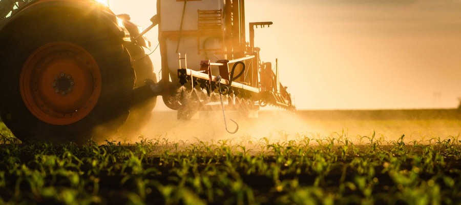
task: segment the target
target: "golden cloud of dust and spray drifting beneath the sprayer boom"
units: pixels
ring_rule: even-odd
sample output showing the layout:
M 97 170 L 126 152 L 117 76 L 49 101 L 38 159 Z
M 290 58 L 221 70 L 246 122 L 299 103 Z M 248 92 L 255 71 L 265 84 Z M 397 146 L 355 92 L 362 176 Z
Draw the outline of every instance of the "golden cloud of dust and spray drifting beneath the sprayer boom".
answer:
M 201 111 L 192 119 L 177 119 L 176 111 L 154 111 L 148 124 L 139 132 L 128 138 L 130 142 L 140 139 L 168 139 L 169 141 L 218 141 L 235 139 L 236 141 L 258 141 L 268 138 L 274 141 L 288 140 L 298 132 L 306 130 L 304 124 L 295 113 L 288 111 L 260 112 L 259 117 L 241 116 L 238 111 L 226 111 L 226 122 L 229 131 L 239 129 L 236 134 L 226 131 L 222 111 Z M 120 140 L 123 137 L 117 139 Z

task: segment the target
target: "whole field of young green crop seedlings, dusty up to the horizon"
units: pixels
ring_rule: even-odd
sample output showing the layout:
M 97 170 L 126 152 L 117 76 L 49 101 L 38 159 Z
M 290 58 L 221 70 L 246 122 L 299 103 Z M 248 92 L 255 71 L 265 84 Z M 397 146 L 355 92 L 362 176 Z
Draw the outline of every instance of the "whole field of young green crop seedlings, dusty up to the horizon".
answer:
M 0 124 L 0 204 L 460 204 L 460 119 L 261 113 L 234 136 L 154 117 L 138 138 L 85 146 L 18 144 Z

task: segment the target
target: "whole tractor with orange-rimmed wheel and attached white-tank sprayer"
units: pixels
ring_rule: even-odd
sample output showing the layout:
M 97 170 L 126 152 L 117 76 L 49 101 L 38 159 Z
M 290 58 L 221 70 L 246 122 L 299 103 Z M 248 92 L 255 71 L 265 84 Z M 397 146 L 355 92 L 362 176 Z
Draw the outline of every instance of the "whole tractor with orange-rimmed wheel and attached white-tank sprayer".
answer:
M 247 42 L 244 10 L 244 0 L 158 0 L 143 29 L 104 1 L 0 0 L 0 117 L 22 141 L 82 144 L 142 127 L 157 96 L 178 119 L 295 110 L 278 64 L 254 45 L 255 28 L 273 23 L 249 23 Z M 160 79 L 146 54 L 154 27 Z

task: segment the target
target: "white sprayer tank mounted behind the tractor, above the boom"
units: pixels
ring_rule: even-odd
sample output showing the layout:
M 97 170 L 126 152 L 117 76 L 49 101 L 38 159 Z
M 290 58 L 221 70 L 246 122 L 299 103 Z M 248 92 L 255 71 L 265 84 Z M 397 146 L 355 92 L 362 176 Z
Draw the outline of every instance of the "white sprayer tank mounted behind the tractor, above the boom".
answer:
M 179 69 L 179 55 L 184 57 L 187 54 L 187 68 L 200 70 L 201 60 L 211 60 L 212 62 L 219 59 L 225 59 L 225 55 L 218 55 L 215 51 L 200 51 L 200 48 L 222 49 L 222 38 L 217 38 L 216 34 L 198 34 L 198 10 L 221 10 L 224 15 L 223 0 L 196 0 L 187 1 L 183 24 L 181 30 L 181 19 L 183 16 L 184 1 L 180 0 L 159 0 L 160 2 L 160 35 L 165 40 L 167 64 L 172 78 L 176 77 Z M 181 30 L 181 32 L 180 32 Z M 225 32 L 224 18 L 222 19 L 221 32 Z M 180 38 L 179 33 L 181 33 Z M 179 47 L 178 47 L 179 40 Z M 206 42 L 205 42 L 206 41 Z M 205 45 L 204 45 L 205 44 Z M 177 50 L 178 48 L 178 50 Z M 176 52 L 176 50 L 178 52 Z M 184 60 L 181 62 L 184 68 Z M 213 68 L 217 70 L 217 68 Z

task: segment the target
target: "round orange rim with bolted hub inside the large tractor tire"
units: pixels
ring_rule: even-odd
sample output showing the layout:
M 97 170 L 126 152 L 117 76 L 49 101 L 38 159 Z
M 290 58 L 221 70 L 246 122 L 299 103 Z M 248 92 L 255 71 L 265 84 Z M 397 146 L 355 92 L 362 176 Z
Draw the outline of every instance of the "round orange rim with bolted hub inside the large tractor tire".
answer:
M 69 125 L 93 110 L 101 94 L 101 73 L 88 51 L 56 42 L 29 56 L 19 89 L 35 117 L 51 125 Z

